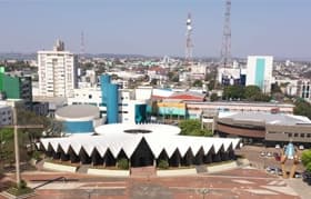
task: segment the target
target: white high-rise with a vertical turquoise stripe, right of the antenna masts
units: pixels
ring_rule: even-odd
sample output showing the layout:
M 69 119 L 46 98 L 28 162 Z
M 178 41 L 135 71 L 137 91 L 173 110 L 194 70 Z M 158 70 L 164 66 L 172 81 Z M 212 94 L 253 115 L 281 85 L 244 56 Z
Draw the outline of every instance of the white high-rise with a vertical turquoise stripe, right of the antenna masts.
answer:
M 258 86 L 262 92 L 271 91 L 272 56 L 249 56 L 247 66 L 247 86 Z

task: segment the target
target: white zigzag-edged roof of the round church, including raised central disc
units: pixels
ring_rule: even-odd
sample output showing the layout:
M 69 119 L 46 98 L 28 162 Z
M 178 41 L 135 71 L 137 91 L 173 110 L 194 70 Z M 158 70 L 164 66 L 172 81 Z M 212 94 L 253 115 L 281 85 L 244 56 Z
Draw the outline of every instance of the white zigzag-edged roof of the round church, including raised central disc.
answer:
M 136 132 L 136 129 L 141 130 Z M 129 132 L 124 132 L 129 130 Z M 104 125 L 96 130 L 99 136 L 90 135 L 72 135 L 63 138 L 47 138 L 41 139 L 42 146 L 48 150 L 49 145 L 53 150 L 58 150 L 58 146 L 64 152 L 68 152 L 71 147 L 74 153 L 79 155 L 81 147 L 91 156 L 97 149 L 101 157 L 107 150 L 110 150 L 114 158 L 118 157 L 121 150 L 124 151 L 128 158 L 131 158 L 142 139 L 146 140 L 150 150 L 156 158 L 165 150 L 169 158 L 178 150 L 181 157 L 184 157 L 188 150 L 191 150 L 195 156 L 202 148 L 207 155 L 211 148 L 214 152 L 219 152 L 221 147 L 228 150 L 230 146 L 235 149 L 239 139 L 227 138 L 202 138 L 191 136 L 179 136 L 180 129 L 174 126 L 140 123 L 140 125 Z

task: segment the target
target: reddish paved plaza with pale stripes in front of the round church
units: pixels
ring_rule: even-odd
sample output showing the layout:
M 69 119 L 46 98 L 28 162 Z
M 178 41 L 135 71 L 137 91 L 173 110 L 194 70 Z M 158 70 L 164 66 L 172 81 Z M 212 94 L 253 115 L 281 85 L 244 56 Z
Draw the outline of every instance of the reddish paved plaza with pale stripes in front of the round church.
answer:
M 281 178 L 252 168 L 174 178 L 106 178 L 40 171 L 24 172 L 22 178 L 36 189 L 36 199 L 300 198 Z

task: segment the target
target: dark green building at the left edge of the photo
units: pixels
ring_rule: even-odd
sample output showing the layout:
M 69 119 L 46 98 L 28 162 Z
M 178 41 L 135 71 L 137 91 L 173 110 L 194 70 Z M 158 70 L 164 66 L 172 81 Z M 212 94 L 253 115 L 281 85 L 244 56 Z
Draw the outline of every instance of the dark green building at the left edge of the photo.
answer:
M 31 77 L 11 76 L 0 68 L 0 92 L 2 99 L 21 99 L 27 107 L 32 102 Z M 29 107 L 30 108 L 30 107 Z

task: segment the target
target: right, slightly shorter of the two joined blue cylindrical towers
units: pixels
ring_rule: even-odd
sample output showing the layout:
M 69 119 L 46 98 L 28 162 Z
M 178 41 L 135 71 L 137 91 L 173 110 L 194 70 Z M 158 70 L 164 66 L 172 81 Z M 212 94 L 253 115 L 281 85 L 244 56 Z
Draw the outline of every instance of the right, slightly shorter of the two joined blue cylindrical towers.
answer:
M 109 83 L 106 88 L 107 92 L 107 120 L 108 123 L 118 123 L 119 121 L 119 87 L 118 84 Z

